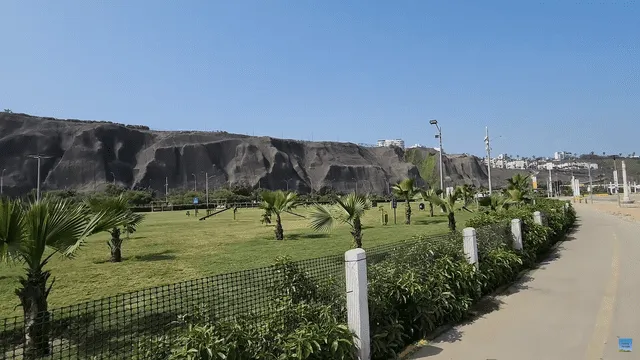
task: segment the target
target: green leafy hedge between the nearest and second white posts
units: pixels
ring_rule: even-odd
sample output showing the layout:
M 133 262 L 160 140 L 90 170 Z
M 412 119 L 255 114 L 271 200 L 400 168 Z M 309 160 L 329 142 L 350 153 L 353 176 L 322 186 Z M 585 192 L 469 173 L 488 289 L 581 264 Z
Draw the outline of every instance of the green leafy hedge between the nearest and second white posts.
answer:
M 404 246 L 370 265 L 368 278 L 373 359 L 395 359 L 410 342 L 462 319 L 482 284 L 460 234 Z

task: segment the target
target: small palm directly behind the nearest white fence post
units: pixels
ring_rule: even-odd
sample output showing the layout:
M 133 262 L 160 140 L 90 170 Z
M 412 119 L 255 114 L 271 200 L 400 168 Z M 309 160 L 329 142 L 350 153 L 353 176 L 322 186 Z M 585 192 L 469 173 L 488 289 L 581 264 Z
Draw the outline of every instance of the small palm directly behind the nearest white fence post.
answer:
M 315 204 L 311 211 L 311 228 L 329 231 L 335 221 L 351 226 L 353 246 L 362 247 L 362 217 L 371 209 L 371 201 L 366 195 L 351 193 L 336 200 L 332 207 Z

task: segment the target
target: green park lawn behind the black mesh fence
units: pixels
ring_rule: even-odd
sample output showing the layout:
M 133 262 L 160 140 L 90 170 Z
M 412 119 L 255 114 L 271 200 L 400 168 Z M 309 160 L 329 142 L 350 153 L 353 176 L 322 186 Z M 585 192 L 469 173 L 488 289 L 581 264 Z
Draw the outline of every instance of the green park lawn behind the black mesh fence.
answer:
M 416 204 L 417 205 L 417 204 Z M 435 217 L 414 205 L 412 224 L 404 225 L 404 206 L 399 204 L 397 225 L 389 211 L 383 226 L 378 209 L 363 218 L 364 248 L 410 239 L 415 235 L 447 232 L 447 219 L 439 210 Z M 385 205 L 388 209 L 388 205 Z M 299 208 L 296 213 L 307 215 Z M 207 220 L 187 217 L 184 211 L 156 212 L 123 244 L 123 262 L 110 263 L 108 234 L 91 237 L 75 259 L 55 255 L 47 269 L 55 277 L 50 307 L 60 307 L 105 296 L 190 280 L 210 275 L 268 266 L 277 256 L 294 260 L 335 255 L 353 244 L 349 227 L 341 224 L 331 233 L 316 233 L 309 220 L 284 214 L 284 241 L 274 240 L 273 226 L 260 223 L 261 210 L 239 209 L 237 220 L 229 210 Z M 202 214 L 202 213 L 201 213 Z M 462 228 L 472 214 L 456 214 Z M 275 220 L 275 219 L 274 219 Z M 0 264 L 0 318 L 20 315 L 14 290 L 24 270 L 21 265 Z

